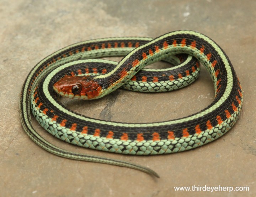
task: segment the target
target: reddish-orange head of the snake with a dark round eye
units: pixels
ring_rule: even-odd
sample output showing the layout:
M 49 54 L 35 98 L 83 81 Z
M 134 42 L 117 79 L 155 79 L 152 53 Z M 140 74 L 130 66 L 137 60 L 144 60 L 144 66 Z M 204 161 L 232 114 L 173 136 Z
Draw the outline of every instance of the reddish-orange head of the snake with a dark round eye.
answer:
M 54 83 L 57 94 L 75 99 L 93 99 L 101 92 L 101 86 L 90 76 L 64 76 Z

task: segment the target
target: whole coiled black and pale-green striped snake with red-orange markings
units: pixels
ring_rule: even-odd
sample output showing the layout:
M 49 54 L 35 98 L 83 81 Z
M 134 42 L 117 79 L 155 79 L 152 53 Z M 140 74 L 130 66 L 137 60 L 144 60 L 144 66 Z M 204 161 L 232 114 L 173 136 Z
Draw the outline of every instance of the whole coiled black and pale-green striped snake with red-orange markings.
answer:
M 120 55 L 124 57 L 119 62 L 95 59 Z M 160 60 L 176 66 L 159 72 L 144 68 Z M 206 108 L 186 117 L 149 123 L 113 122 L 78 114 L 59 102 L 59 95 L 98 99 L 119 87 L 142 92 L 185 87 L 197 78 L 197 61 L 209 72 L 215 97 Z M 20 116 L 26 134 L 50 153 L 123 166 L 159 177 L 145 166 L 54 146 L 34 129 L 31 112 L 44 129 L 63 141 L 113 153 L 156 155 L 190 150 L 224 135 L 238 120 L 242 100 L 241 84 L 223 49 L 204 34 L 181 30 L 154 39 L 87 40 L 58 50 L 28 74 L 21 91 Z

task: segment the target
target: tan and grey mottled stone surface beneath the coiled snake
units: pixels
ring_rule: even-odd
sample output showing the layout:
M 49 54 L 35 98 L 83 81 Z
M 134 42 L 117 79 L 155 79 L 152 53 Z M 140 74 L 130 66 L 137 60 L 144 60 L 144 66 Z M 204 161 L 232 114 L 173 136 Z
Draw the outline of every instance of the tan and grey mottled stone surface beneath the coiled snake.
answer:
M 1 0 L 0 196 L 256 196 L 255 9 L 252 0 Z M 57 157 L 25 134 L 18 102 L 22 83 L 38 61 L 82 40 L 156 37 L 178 29 L 208 35 L 233 62 L 244 90 L 244 105 L 239 121 L 226 135 L 192 151 L 134 157 L 72 146 L 34 124 L 56 146 L 148 166 L 161 176 L 156 180 L 127 168 Z M 100 100 L 64 99 L 64 103 L 91 117 L 149 122 L 189 115 L 213 98 L 212 82 L 203 70 L 194 84 L 180 91 L 142 94 L 120 89 Z M 174 189 L 193 185 L 248 186 L 250 191 Z

